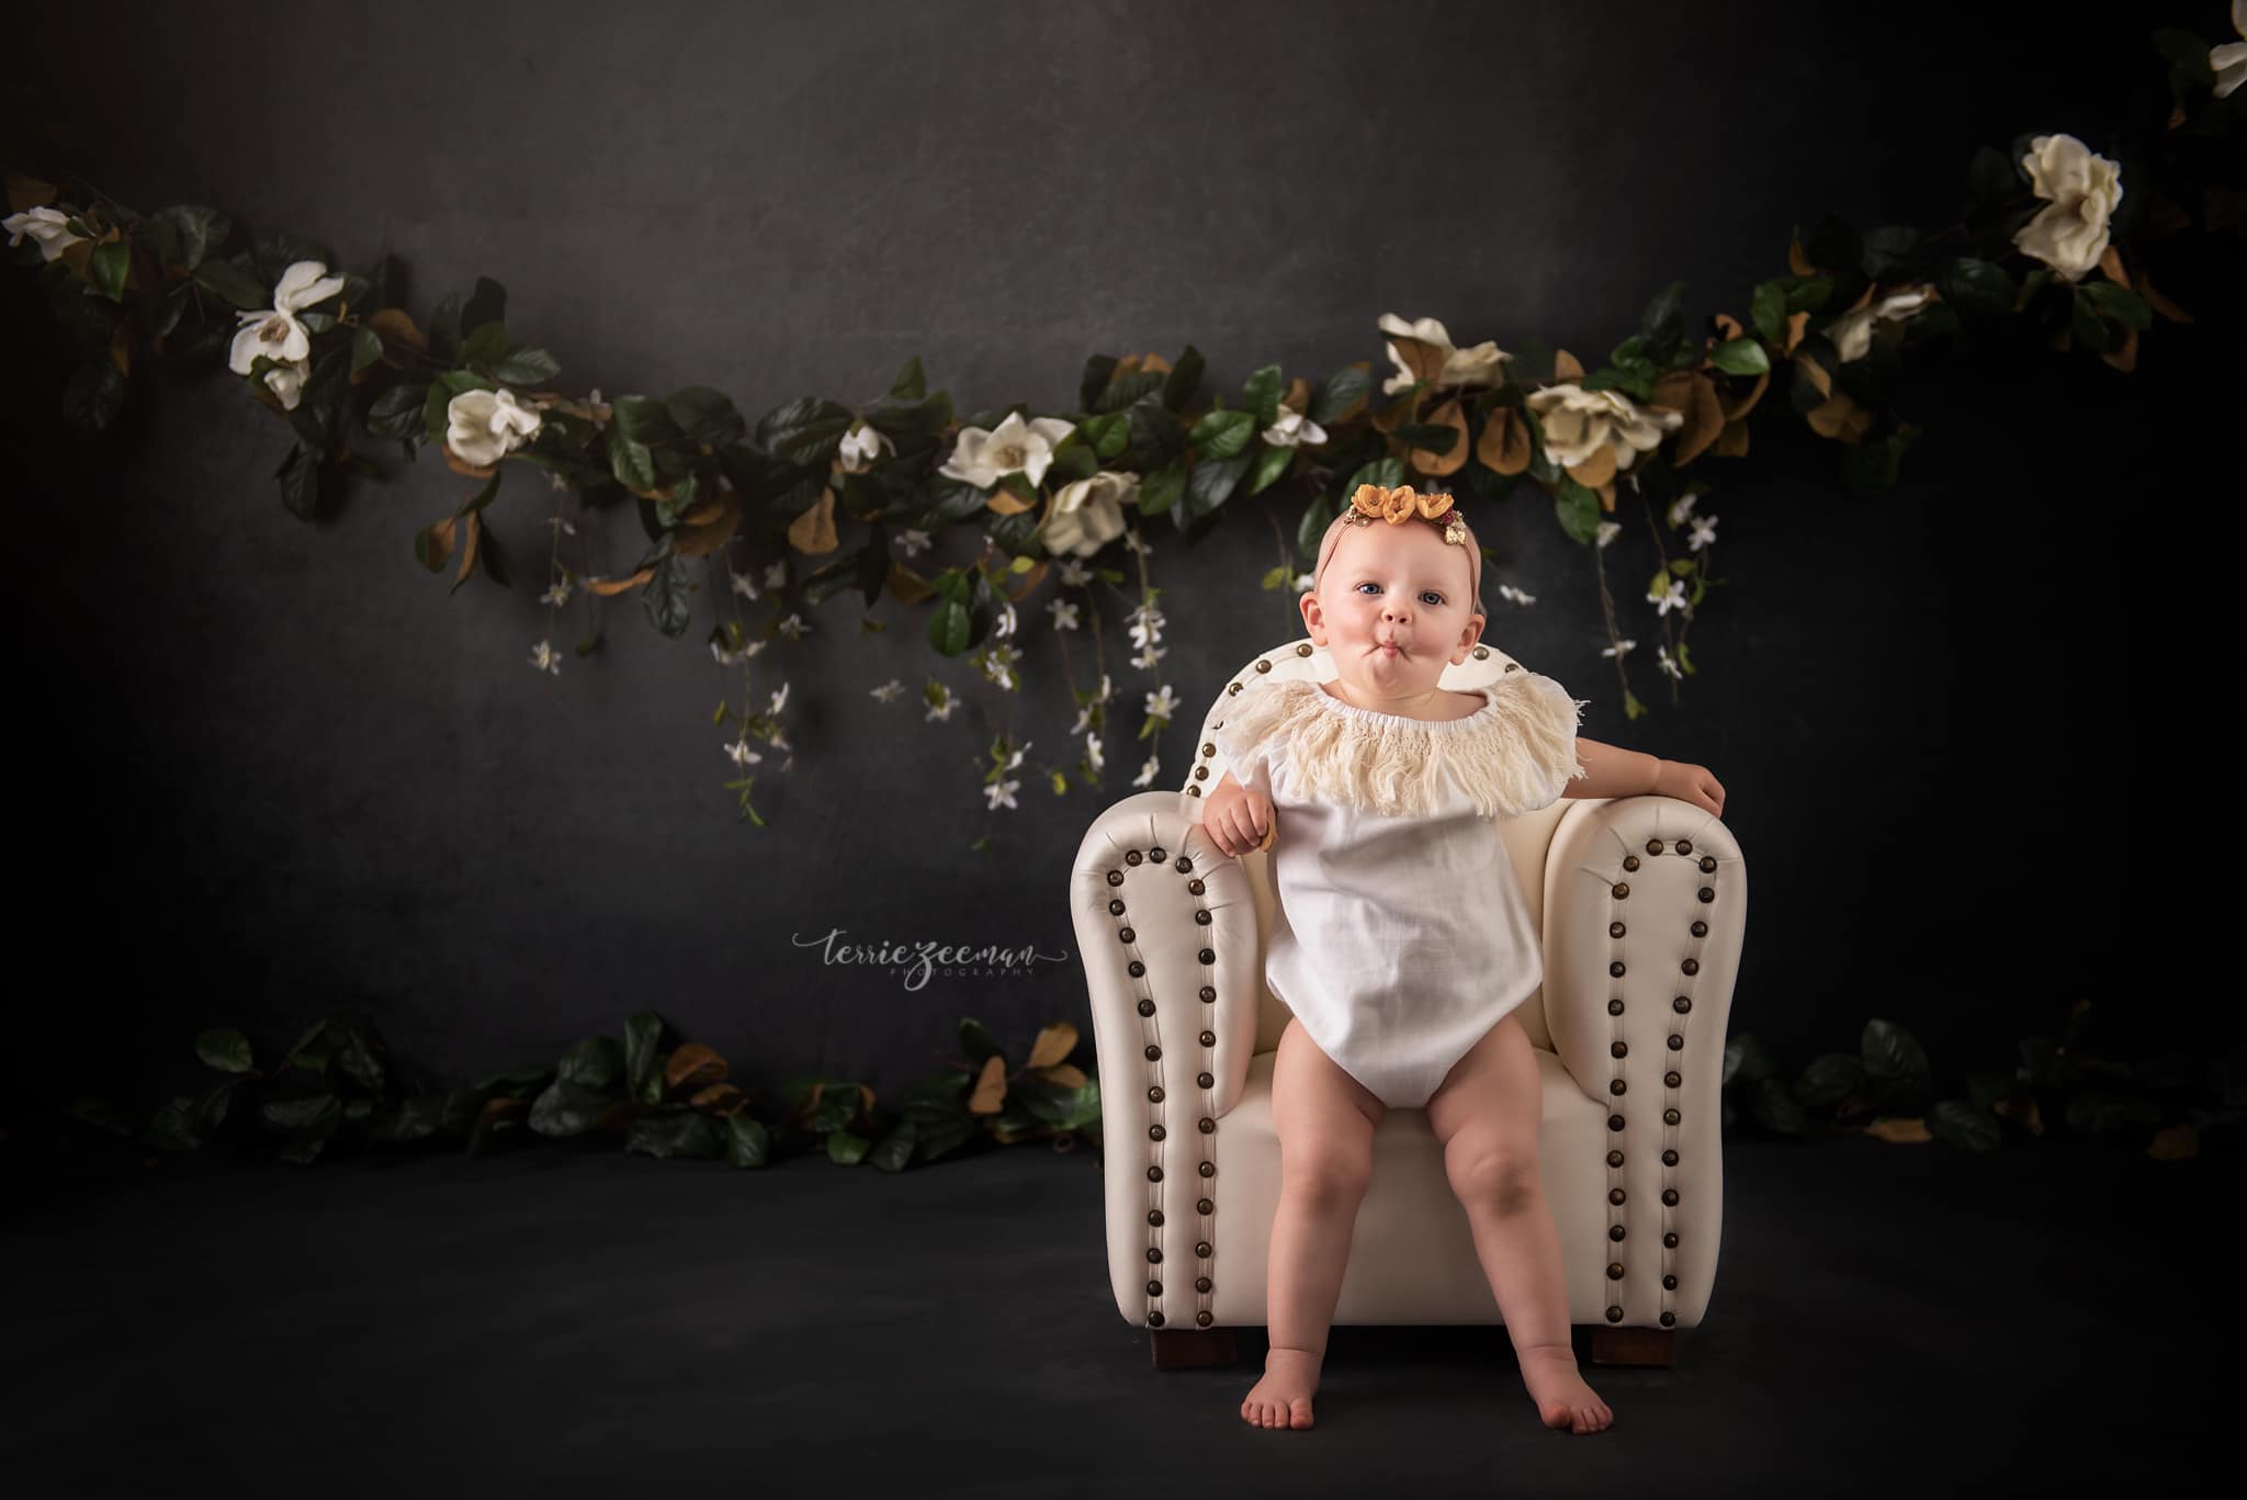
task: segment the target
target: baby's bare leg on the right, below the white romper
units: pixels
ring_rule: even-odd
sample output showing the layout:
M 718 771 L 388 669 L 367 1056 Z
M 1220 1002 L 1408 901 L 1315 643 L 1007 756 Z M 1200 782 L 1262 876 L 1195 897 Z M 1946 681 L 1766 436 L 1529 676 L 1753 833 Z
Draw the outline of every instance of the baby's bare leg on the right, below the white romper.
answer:
M 1467 1210 L 1474 1253 L 1499 1300 L 1537 1415 L 1550 1428 L 1600 1433 L 1616 1412 L 1575 1367 L 1559 1230 L 1537 1172 L 1544 1079 L 1521 1021 L 1505 1016 L 1452 1066 L 1427 1102 L 1443 1169 Z

